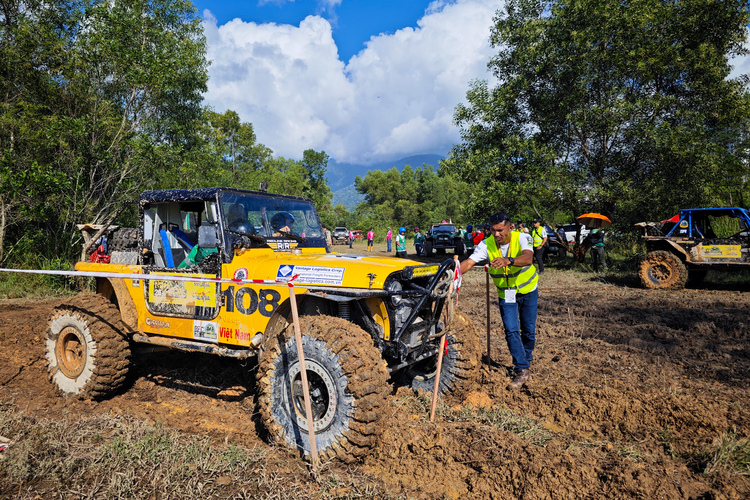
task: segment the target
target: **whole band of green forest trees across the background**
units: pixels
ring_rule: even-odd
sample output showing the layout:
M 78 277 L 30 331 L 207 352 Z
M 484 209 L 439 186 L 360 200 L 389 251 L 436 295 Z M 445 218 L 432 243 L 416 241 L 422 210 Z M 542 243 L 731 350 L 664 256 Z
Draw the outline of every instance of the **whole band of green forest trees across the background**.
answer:
M 324 226 L 450 219 L 633 223 L 747 206 L 750 5 L 739 0 L 506 0 L 440 165 L 370 171 L 332 206 L 328 155 L 274 156 L 203 104 L 206 41 L 187 0 L 0 0 L 0 266 L 69 268 L 76 224 L 144 189 L 231 186 L 311 198 Z M 251 91 L 251 89 L 250 89 Z M 135 226 L 135 213 L 114 221 Z

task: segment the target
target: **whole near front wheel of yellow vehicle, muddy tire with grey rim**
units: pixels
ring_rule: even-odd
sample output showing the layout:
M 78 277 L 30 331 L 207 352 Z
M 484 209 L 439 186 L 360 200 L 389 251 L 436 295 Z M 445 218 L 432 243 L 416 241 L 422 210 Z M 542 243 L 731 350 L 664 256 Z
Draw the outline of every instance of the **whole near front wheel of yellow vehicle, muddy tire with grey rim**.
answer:
M 377 445 L 389 391 L 386 363 L 358 326 L 330 316 L 300 318 L 315 443 L 324 458 L 351 463 Z M 310 454 L 293 326 L 269 339 L 258 366 L 263 424 L 280 443 Z

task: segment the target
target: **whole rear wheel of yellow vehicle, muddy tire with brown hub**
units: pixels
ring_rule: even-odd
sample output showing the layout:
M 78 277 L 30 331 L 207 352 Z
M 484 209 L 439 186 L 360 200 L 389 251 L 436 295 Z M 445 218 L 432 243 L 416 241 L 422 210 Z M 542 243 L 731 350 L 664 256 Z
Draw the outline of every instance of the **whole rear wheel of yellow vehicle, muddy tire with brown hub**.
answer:
M 57 391 L 100 400 L 120 389 L 130 367 L 127 331 L 120 311 L 101 295 L 79 295 L 56 307 L 45 345 Z

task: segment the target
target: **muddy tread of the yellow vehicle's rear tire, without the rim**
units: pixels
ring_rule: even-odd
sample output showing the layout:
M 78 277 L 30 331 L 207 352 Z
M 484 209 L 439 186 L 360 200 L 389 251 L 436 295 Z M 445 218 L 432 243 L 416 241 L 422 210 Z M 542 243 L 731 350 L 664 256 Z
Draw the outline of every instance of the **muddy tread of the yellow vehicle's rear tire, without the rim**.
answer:
M 75 397 L 101 400 L 117 392 L 125 383 L 130 369 L 128 327 L 120 311 L 101 295 L 78 295 L 55 307 L 51 321 L 65 315 L 84 320 L 97 344 L 91 378 Z M 53 374 L 49 373 L 50 381 Z M 59 394 L 63 394 L 56 385 Z

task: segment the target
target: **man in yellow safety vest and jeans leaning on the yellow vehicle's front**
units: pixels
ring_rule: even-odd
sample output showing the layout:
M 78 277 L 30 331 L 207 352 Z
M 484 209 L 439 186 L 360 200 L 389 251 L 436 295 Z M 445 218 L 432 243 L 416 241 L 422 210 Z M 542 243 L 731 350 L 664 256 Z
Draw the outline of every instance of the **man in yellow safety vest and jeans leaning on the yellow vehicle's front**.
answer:
M 509 389 L 520 389 L 530 378 L 529 368 L 536 343 L 539 275 L 532 265 L 531 236 L 511 230 L 505 213 L 490 217 L 490 235 L 461 263 L 465 273 L 477 262 L 489 261 L 489 273 L 497 287 L 505 340 L 513 357 L 515 378 Z

